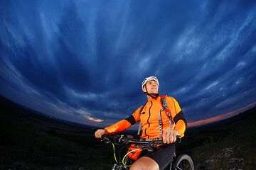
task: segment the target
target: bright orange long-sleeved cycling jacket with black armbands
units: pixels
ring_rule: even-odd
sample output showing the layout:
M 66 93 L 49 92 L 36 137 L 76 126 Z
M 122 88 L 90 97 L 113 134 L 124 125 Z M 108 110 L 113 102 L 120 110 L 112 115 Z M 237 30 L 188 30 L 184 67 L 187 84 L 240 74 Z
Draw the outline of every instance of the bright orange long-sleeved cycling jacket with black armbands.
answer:
M 174 98 L 167 96 L 166 102 L 171 111 L 171 118 L 176 124 L 172 125 L 171 128 L 178 131 L 181 137 L 183 137 L 186 130 L 186 118 L 184 118 L 183 112 Z M 142 107 L 144 107 L 143 110 Z M 118 123 L 105 128 L 105 130 L 107 130 L 108 134 L 122 132 L 140 121 L 142 123 L 141 137 L 155 139 L 160 135 L 159 112 L 161 114 L 163 132 L 170 128 L 169 118 L 164 111 L 160 111 L 161 108 L 161 97 L 158 96 L 157 98 L 152 98 L 145 106 L 138 108 L 129 118 L 121 120 Z

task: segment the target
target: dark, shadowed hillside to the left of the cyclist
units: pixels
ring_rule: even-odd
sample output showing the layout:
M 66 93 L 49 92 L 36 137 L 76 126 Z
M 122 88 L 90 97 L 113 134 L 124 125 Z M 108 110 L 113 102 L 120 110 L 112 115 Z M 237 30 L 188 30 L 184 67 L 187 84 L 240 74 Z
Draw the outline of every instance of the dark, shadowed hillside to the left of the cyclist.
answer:
M 0 96 L 0 169 L 95 169 L 112 163 L 92 129 Z

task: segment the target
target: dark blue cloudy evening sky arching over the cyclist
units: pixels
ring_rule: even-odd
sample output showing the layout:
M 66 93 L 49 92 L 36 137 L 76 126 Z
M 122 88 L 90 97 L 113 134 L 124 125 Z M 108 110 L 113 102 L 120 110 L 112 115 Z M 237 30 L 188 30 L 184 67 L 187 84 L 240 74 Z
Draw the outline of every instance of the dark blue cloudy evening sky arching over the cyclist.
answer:
M 0 94 L 105 127 L 159 78 L 189 125 L 256 102 L 255 1 L 1 1 Z

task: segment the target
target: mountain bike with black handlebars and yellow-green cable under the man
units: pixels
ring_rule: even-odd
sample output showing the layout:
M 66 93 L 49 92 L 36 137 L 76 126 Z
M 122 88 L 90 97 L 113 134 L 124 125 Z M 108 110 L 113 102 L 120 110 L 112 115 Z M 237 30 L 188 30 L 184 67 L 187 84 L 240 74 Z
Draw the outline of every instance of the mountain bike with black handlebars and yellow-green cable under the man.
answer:
M 125 137 L 124 135 L 103 135 L 102 136 L 102 142 L 105 142 L 106 144 L 112 144 L 113 145 L 113 150 L 114 150 L 114 144 L 116 145 L 138 145 L 139 149 L 147 149 L 149 152 L 153 152 L 154 148 L 159 147 L 159 145 L 166 145 L 164 144 L 163 140 L 152 140 L 152 141 L 142 141 L 142 140 L 137 140 L 134 139 L 131 135 L 127 135 Z M 181 142 L 181 137 L 177 136 L 176 143 Z M 121 152 L 121 151 L 120 151 Z M 132 151 L 131 151 L 132 152 Z M 114 159 L 117 162 L 117 164 L 114 164 L 112 166 L 112 170 L 122 170 L 122 169 L 129 169 L 129 166 L 132 166 L 133 163 L 132 159 L 129 159 L 127 154 L 124 155 L 122 162 L 117 162 L 115 152 L 114 152 Z M 174 155 L 176 157 L 176 155 Z M 135 162 L 135 161 L 134 161 Z M 195 167 L 193 165 L 193 160 L 188 154 L 181 154 L 174 162 L 174 159 L 171 160 L 169 166 L 166 166 L 167 168 L 169 167 L 170 170 L 195 170 Z M 167 169 L 166 168 L 166 169 Z

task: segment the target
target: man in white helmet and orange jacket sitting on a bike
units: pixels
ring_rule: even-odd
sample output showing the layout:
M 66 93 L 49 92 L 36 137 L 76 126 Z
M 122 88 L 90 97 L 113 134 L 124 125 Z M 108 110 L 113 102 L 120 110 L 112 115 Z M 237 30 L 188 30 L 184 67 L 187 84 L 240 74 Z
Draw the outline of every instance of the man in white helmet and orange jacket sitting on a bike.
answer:
M 186 130 L 186 119 L 178 102 L 171 97 L 166 97 L 166 102 L 171 112 L 171 123 L 168 115 L 162 110 L 161 96 L 159 96 L 159 81 L 156 77 L 146 77 L 142 82 L 142 91 L 146 94 L 148 102 L 137 109 L 129 118 L 119 121 L 114 125 L 95 132 L 95 137 L 100 138 L 104 134 L 114 134 L 126 130 L 138 121 L 142 123 L 142 140 L 162 138 L 169 145 L 152 154 L 142 154 L 131 166 L 131 170 L 159 170 L 171 162 L 174 157 L 176 136 L 183 137 Z M 160 121 L 161 120 L 161 121 Z

